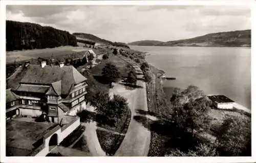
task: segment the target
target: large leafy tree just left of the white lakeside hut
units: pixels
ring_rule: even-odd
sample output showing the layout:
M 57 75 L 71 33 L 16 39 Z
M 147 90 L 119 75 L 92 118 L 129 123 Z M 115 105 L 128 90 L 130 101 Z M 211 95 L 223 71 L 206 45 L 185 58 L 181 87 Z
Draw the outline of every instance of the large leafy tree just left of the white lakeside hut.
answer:
M 194 129 L 209 127 L 210 101 L 197 86 L 188 86 L 185 90 L 175 89 L 170 100 L 174 105 L 173 120 L 176 124 L 194 135 Z

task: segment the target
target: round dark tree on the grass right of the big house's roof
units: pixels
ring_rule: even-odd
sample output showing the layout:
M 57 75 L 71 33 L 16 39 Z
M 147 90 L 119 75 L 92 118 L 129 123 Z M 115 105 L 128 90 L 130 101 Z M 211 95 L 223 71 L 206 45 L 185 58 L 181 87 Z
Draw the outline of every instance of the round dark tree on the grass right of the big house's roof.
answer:
M 120 78 L 120 72 L 118 68 L 112 63 L 106 63 L 102 68 L 102 77 L 110 84 L 116 82 Z

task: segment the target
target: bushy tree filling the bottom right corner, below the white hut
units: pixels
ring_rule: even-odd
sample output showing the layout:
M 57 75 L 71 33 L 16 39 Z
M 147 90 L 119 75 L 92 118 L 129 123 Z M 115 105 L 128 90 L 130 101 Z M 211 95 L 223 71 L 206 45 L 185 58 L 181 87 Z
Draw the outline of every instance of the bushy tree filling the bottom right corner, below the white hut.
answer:
M 247 117 L 228 117 L 217 136 L 223 156 L 251 155 L 251 121 Z

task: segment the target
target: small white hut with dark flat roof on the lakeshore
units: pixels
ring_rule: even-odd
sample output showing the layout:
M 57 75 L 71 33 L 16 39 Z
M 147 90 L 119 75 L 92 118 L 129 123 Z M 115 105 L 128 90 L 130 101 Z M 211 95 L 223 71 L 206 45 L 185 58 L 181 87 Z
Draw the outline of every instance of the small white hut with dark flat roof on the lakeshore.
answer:
M 212 101 L 212 105 L 218 109 L 232 109 L 234 103 L 236 103 L 224 95 L 213 95 L 208 96 L 208 98 Z

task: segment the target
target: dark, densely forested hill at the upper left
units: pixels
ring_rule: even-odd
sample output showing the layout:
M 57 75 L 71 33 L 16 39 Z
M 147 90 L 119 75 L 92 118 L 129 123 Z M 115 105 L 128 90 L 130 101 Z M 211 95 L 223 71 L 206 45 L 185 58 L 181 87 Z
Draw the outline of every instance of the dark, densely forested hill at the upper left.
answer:
M 77 46 L 76 37 L 67 31 L 30 22 L 6 20 L 6 51 Z

